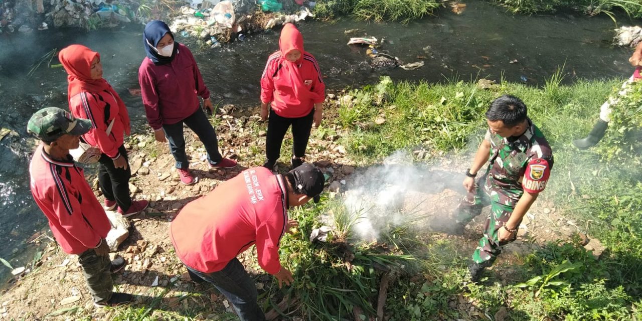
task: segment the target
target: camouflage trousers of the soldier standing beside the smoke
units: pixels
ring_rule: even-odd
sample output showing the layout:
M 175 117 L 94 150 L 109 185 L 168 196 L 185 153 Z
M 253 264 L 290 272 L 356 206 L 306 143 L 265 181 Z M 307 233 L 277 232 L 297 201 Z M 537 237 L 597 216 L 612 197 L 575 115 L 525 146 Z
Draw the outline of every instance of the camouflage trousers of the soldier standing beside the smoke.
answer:
M 487 175 L 477 180 L 475 190 L 464 196 L 455 211 L 456 221 L 465 225 L 481 214 L 484 206 L 490 205 L 490 214 L 486 219 L 483 237 L 473 253 L 473 261 L 484 267 L 492 265 L 501 253 L 503 245 L 516 239 L 514 236 L 513 239 L 499 242 L 499 228 L 508 221 L 517 200 L 523 193 L 519 189 L 502 189 L 493 186 L 494 184 L 487 179 Z

